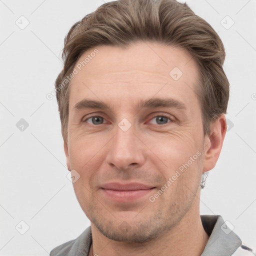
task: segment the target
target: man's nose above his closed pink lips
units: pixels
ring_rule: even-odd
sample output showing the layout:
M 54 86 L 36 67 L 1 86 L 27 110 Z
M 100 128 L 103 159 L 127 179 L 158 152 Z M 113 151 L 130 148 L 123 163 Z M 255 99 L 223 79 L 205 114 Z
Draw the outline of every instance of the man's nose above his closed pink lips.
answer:
M 109 141 L 106 161 L 108 164 L 125 170 L 131 166 L 142 166 L 145 162 L 146 148 L 139 135 L 135 134 L 133 125 L 123 131 L 116 127 L 116 134 Z

